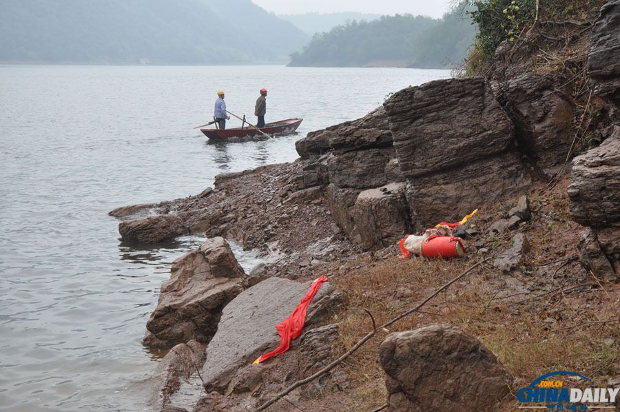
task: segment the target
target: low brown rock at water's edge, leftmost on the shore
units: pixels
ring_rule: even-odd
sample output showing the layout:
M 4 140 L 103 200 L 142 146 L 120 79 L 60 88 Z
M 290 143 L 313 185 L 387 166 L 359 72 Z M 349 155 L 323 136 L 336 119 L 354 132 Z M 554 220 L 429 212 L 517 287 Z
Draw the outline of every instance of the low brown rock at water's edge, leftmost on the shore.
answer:
M 189 228 L 176 214 L 159 214 L 125 220 L 118 224 L 118 232 L 125 242 L 158 243 L 189 234 Z

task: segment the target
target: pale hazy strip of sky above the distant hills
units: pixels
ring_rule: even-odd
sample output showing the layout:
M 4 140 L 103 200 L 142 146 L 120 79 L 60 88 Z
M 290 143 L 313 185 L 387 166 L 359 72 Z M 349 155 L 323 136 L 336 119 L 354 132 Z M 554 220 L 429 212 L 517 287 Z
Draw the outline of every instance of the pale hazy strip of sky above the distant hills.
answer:
M 276 14 L 306 12 L 363 12 L 376 14 L 411 13 L 442 17 L 453 0 L 252 0 Z

